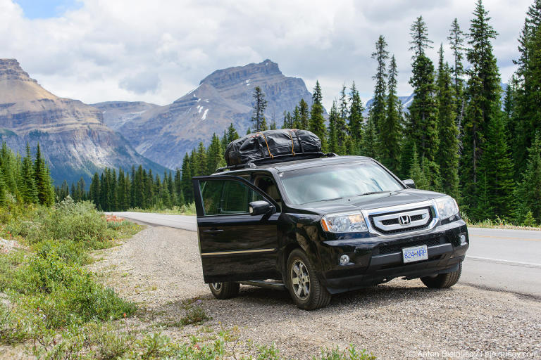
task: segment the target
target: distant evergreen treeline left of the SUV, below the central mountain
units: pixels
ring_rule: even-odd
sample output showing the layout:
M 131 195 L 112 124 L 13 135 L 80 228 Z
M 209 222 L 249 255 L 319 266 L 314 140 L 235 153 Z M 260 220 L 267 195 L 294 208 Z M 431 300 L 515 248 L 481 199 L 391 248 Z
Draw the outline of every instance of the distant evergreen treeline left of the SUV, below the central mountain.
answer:
M 89 190 L 85 191 L 84 179 L 68 186 L 66 181 L 56 188 L 58 200 L 68 195 L 75 201 L 92 200 L 103 211 L 125 211 L 139 209 L 172 209 L 193 203 L 192 176 L 211 174 L 218 167 L 225 166 L 223 151 L 225 146 L 239 135 L 230 125 L 220 139 L 216 134 L 206 148 L 203 143 L 186 155 L 182 163 L 182 171 L 153 174 L 152 170 L 132 167 L 130 172 L 123 169 L 108 169 L 92 176 Z

